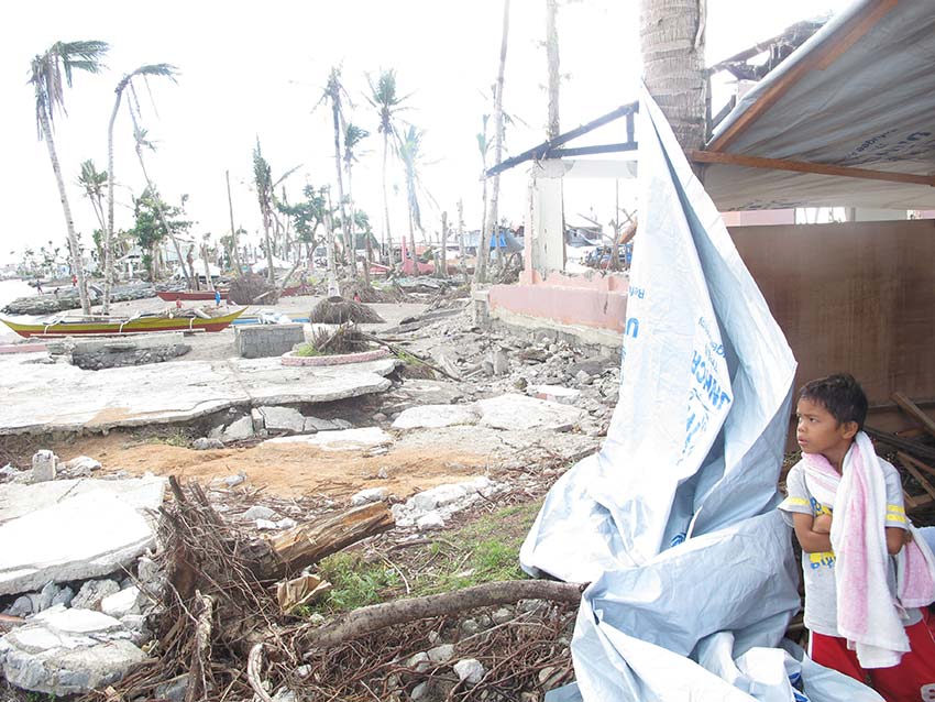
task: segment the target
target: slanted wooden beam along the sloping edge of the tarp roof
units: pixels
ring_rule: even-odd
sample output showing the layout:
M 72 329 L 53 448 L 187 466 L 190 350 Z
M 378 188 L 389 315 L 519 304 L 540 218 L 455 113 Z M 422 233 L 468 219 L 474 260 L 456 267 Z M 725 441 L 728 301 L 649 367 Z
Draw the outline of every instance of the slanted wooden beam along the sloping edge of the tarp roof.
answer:
M 827 68 L 845 51 L 850 48 L 857 40 L 870 31 L 883 15 L 892 10 L 897 6 L 897 2 L 899 0 L 876 0 L 875 2 L 867 3 L 848 22 L 843 24 L 835 34 L 828 36 L 823 45 L 814 48 L 811 55 L 795 64 L 782 78 L 770 86 L 708 147 L 712 151 L 722 151 L 729 146 L 747 127 L 771 108 L 805 74 L 813 69 L 822 70 Z

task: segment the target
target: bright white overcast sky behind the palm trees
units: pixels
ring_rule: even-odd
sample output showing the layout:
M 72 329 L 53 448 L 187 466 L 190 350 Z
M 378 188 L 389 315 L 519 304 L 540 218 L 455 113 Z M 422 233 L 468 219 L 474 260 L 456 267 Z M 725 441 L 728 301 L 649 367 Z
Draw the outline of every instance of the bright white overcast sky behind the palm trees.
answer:
M 708 63 L 729 56 L 787 25 L 847 0 L 708 0 Z M 544 0 L 513 0 L 507 55 L 505 108 L 525 122 L 507 133 L 512 153 L 544 139 L 547 102 Z M 176 201 L 189 196 L 193 233 L 229 233 L 224 171 L 231 173 L 234 219 L 251 234 L 260 229 L 255 195 L 250 189 L 252 150 L 257 136 L 274 178 L 300 166 L 286 187 L 300 197 L 306 183 L 334 183 L 330 111 L 316 109 L 328 73 L 342 66 L 353 106 L 349 119 L 372 135 L 354 171 L 354 197 L 371 216 L 377 234 L 382 221 L 381 138 L 376 112 L 366 102 L 365 74 L 395 68 L 398 89 L 409 95 L 404 119 L 426 130 L 422 179 L 435 201 L 424 204 L 424 223 L 439 229 L 442 210 L 455 217 L 464 201 L 465 224 L 481 218 L 481 162 L 476 134 L 481 116 L 492 109 L 491 85 L 497 72 L 502 28 L 501 0 L 306 0 L 265 3 L 179 2 L 76 3 L 51 0 L 41 6 L 16 3 L 4 9 L 0 42 L 0 89 L 3 130 L 0 169 L 3 227 L 0 263 L 20 259 L 25 246 L 48 240 L 65 246 L 65 224 L 45 144 L 36 139 L 30 59 L 56 41 L 102 40 L 111 45 L 108 70 L 77 74 L 66 94 L 67 116 L 56 119 L 56 146 L 69 184 L 76 227 L 90 241 L 95 218 L 75 185 L 80 163 L 92 158 L 107 166 L 107 123 L 113 88 L 124 73 L 141 64 L 170 63 L 177 84 L 150 81 L 140 92 L 144 128 L 157 150 L 147 166 L 163 195 Z M 568 130 L 636 97 L 640 75 L 637 0 L 561 2 L 559 39 L 561 127 Z M 715 110 L 718 106 L 715 106 Z M 619 141 L 605 133 L 602 141 Z M 143 178 L 133 152 L 125 105 L 116 128 L 117 226 L 132 226 L 131 194 Z M 503 178 L 501 213 L 521 223 L 526 171 Z M 405 185 L 398 166 L 391 168 L 394 237 L 406 223 Z M 566 217 L 579 215 L 606 223 L 614 213 L 613 183 L 578 182 L 566 187 Z M 631 201 L 624 184 L 622 205 Z

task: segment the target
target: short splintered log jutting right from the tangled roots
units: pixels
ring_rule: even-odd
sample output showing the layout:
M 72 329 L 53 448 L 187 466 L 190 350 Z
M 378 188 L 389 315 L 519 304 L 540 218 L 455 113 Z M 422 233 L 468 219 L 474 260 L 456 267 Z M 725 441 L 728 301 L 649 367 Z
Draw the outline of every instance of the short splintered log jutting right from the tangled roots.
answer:
M 382 502 L 300 524 L 252 544 L 251 570 L 260 580 L 279 580 L 352 544 L 392 529 L 395 524 L 393 514 Z

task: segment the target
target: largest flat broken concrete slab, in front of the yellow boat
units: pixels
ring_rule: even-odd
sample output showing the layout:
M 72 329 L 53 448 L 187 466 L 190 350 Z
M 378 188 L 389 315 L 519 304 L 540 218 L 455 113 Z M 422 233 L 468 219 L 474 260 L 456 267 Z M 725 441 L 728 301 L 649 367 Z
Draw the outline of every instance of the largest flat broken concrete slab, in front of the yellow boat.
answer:
M 0 436 L 190 421 L 229 407 L 332 402 L 386 391 L 397 359 L 287 369 L 278 359 L 175 361 L 82 371 L 0 357 Z M 48 387 L 68 388 L 47 401 Z

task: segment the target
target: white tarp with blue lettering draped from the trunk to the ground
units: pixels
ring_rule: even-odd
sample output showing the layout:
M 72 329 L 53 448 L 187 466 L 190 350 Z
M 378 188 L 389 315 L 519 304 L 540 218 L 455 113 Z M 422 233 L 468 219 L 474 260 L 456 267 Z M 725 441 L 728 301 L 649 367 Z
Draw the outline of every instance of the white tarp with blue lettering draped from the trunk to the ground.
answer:
M 791 701 L 789 674 L 802 672 L 813 702 L 879 700 L 777 648 L 800 607 L 776 509 L 795 361 L 645 90 L 639 114 L 619 402 L 601 451 L 557 482 L 520 553 L 529 572 L 592 582 L 576 687 L 548 699 Z

